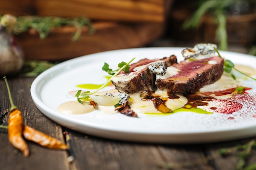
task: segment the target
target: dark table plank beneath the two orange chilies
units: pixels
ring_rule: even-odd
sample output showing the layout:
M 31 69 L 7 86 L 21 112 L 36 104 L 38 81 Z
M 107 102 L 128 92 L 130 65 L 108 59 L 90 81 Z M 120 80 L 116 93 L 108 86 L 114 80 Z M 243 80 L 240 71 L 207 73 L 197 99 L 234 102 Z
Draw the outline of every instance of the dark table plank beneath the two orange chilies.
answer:
M 48 135 L 63 140 L 61 126 L 45 117 L 34 105 L 30 96 L 30 85 L 33 78 L 8 78 L 14 104 L 23 115 L 24 124 Z M 0 79 L 0 113 L 1 124 L 7 125 L 8 111 L 10 108 L 7 88 L 4 79 Z M 68 170 L 67 151 L 50 150 L 33 142 L 27 141 L 30 155 L 24 157 L 21 153 L 16 154 L 16 149 L 9 143 L 7 130 L 0 130 L 0 167 L 5 170 Z M 36 168 L 35 168 L 36 167 Z

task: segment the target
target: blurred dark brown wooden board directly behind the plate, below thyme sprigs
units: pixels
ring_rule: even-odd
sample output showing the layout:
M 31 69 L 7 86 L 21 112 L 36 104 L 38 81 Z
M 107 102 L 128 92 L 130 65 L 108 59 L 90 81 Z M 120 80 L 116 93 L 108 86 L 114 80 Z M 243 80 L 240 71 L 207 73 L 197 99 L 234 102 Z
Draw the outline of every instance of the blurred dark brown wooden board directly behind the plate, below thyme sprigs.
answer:
M 159 38 L 164 30 L 163 23 L 119 24 L 95 22 L 93 35 L 84 27 L 81 37 L 73 42 L 76 28 L 65 26 L 40 40 L 34 30 L 16 36 L 28 60 L 67 60 L 82 55 L 145 46 Z

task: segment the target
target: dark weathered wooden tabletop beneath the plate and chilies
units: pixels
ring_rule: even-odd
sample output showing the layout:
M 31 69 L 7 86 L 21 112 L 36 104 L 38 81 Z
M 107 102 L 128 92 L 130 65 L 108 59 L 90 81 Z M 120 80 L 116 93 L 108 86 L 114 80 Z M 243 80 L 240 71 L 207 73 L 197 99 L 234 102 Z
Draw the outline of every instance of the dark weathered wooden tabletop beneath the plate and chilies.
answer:
M 165 163 L 177 170 L 235 170 L 237 153 L 220 157 L 222 148 L 244 145 L 253 139 L 212 144 L 144 144 L 90 136 L 56 124 L 36 108 L 30 95 L 34 78 L 9 77 L 13 102 L 21 110 L 25 125 L 67 142 L 69 150 L 50 150 L 28 141 L 30 155 L 24 157 L 9 143 L 6 129 L 0 129 L 1 170 L 163 170 Z M 0 125 L 8 125 L 9 98 L 0 79 Z M 256 163 L 252 148 L 247 165 Z

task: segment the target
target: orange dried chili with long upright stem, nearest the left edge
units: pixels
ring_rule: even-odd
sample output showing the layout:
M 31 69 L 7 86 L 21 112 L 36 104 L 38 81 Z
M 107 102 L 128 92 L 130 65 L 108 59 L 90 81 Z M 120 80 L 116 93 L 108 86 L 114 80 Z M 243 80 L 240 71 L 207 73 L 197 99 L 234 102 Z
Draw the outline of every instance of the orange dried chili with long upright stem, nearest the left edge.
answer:
M 14 104 L 13 104 L 6 77 L 4 77 L 4 80 L 5 80 L 5 83 L 7 86 L 9 99 L 10 99 L 10 103 L 11 103 L 10 114 L 9 114 L 9 124 L 8 124 L 9 141 L 14 147 L 21 150 L 25 157 L 28 157 L 29 156 L 29 148 L 28 148 L 25 140 L 22 138 L 22 131 L 23 131 L 22 114 L 21 114 L 20 110 L 18 110 L 17 107 L 14 106 Z

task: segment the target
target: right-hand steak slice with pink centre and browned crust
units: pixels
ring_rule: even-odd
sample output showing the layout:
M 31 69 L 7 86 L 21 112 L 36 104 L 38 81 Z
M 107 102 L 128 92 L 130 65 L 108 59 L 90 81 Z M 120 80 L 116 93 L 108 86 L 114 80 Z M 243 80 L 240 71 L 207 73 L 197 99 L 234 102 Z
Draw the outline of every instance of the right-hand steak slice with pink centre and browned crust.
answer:
M 211 84 L 220 79 L 223 74 L 224 60 L 219 57 L 209 57 L 201 60 L 184 60 L 173 64 L 169 69 L 169 77 L 158 76 L 156 85 L 168 94 L 182 93 L 184 95 L 198 91 L 206 84 Z M 165 75 L 165 76 L 166 76 Z

